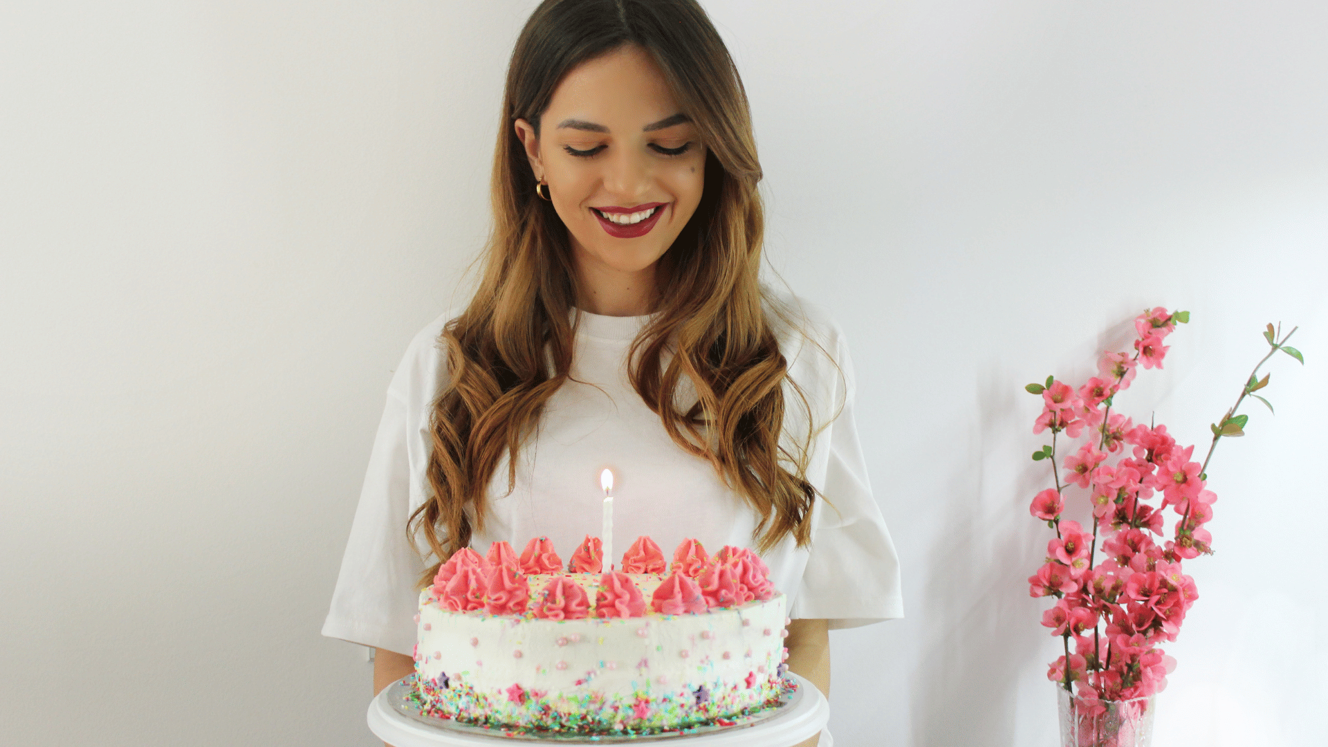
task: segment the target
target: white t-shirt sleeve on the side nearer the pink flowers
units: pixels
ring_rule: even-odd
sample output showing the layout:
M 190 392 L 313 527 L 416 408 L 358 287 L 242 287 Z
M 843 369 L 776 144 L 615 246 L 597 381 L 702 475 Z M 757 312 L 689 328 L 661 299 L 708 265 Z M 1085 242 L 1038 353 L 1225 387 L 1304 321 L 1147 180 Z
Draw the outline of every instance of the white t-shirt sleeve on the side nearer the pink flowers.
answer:
M 843 407 L 823 433 L 829 449 L 825 480 L 813 509 L 811 546 L 789 617 L 826 618 L 830 629 L 902 618 L 899 557 L 880 506 L 871 494 L 867 464 L 854 421 L 854 372 L 837 335 L 843 372 Z

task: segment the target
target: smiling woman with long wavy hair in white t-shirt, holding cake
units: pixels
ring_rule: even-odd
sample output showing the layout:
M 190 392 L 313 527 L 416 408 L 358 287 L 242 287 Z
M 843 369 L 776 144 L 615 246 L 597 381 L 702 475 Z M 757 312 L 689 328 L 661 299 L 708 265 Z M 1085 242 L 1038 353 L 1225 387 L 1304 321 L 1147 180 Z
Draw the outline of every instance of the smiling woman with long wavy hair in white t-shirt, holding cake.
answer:
M 794 618 L 789 667 L 822 691 L 829 629 L 902 617 L 842 335 L 758 282 L 760 178 L 742 84 L 695 0 L 531 15 L 479 288 L 397 368 L 323 629 L 377 649 L 376 691 L 412 671 L 441 561 L 535 536 L 571 553 L 598 533 L 604 467 L 616 546 L 761 553 Z

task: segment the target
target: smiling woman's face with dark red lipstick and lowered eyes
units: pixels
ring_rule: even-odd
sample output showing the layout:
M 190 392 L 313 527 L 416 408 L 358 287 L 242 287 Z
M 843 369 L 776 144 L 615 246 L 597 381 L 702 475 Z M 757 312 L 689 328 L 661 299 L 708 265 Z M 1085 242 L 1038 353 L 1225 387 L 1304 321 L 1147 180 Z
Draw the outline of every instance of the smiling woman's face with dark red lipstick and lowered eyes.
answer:
M 567 226 L 579 275 L 651 270 L 701 202 L 705 146 L 659 66 L 625 45 L 572 69 L 517 134 Z

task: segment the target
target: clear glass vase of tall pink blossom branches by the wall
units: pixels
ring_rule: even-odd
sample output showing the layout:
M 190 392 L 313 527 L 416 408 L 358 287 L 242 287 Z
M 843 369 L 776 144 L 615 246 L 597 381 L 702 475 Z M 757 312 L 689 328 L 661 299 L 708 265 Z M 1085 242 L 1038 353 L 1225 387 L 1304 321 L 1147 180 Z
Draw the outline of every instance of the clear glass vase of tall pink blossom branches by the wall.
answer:
M 1286 344 L 1296 330 L 1282 336 L 1268 324 L 1268 354 L 1211 425 L 1207 456 L 1197 461 L 1194 447 L 1178 444 L 1166 425 L 1135 424 L 1114 411 L 1141 367 L 1162 368 L 1167 335 L 1189 320 L 1186 311 L 1145 311 L 1134 320 L 1133 354 L 1104 352 L 1098 376 L 1077 388 L 1054 376 L 1025 387 L 1044 403 L 1033 432 L 1050 432 L 1050 444 L 1033 452 L 1033 460 L 1052 465 L 1054 486 L 1037 493 L 1029 510 L 1056 536 L 1028 582 L 1031 595 L 1056 599 L 1042 625 L 1064 650 L 1048 670 L 1058 690 L 1064 747 L 1151 743 L 1155 695 L 1175 669 L 1159 645 L 1177 639 L 1199 598 L 1183 564 L 1212 552 L 1204 525 L 1218 496 L 1207 488 L 1208 461 L 1219 440 L 1244 435 L 1248 416 L 1238 411 L 1246 397 L 1272 411 L 1255 393 L 1270 379 L 1260 379 L 1259 368 L 1278 351 L 1304 363 Z M 1062 518 L 1066 501 L 1081 497 L 1092 510 L 1090 526 Z

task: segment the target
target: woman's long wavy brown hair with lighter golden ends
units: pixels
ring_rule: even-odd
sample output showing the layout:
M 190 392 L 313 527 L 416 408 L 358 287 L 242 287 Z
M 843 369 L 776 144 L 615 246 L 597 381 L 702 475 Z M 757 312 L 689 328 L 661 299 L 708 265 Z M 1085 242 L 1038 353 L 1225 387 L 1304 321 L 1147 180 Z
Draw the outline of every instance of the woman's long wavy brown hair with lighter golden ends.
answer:
M 708 146 L 696 213 L 659 259 L 655 315 L 633 340 L 629 377 L 685 452 L 713 464 L 760 516 L 758 552 L 788 536 L 810 541 L 814 436 L 806 396 L 788 376 L 762 288 L 764 217 L 746 92 L 724 41 L 695 0 L 546 0 L 522 29 L 507 68 L 494 153 L 494 223 L 479 286 L 440 338 L 448 381 L 433 407 L 433 494 L 410 516 L 438 565 L 483 528 L 485 492 L 517 453 L 548 397 L 570 377 L 578 298 L 572 250 L 514 132 L 539 118 L 576 65 L 627 44 L 648 52 Z M 807 432 L 781 445 L 785 389 L 806 408 Z

